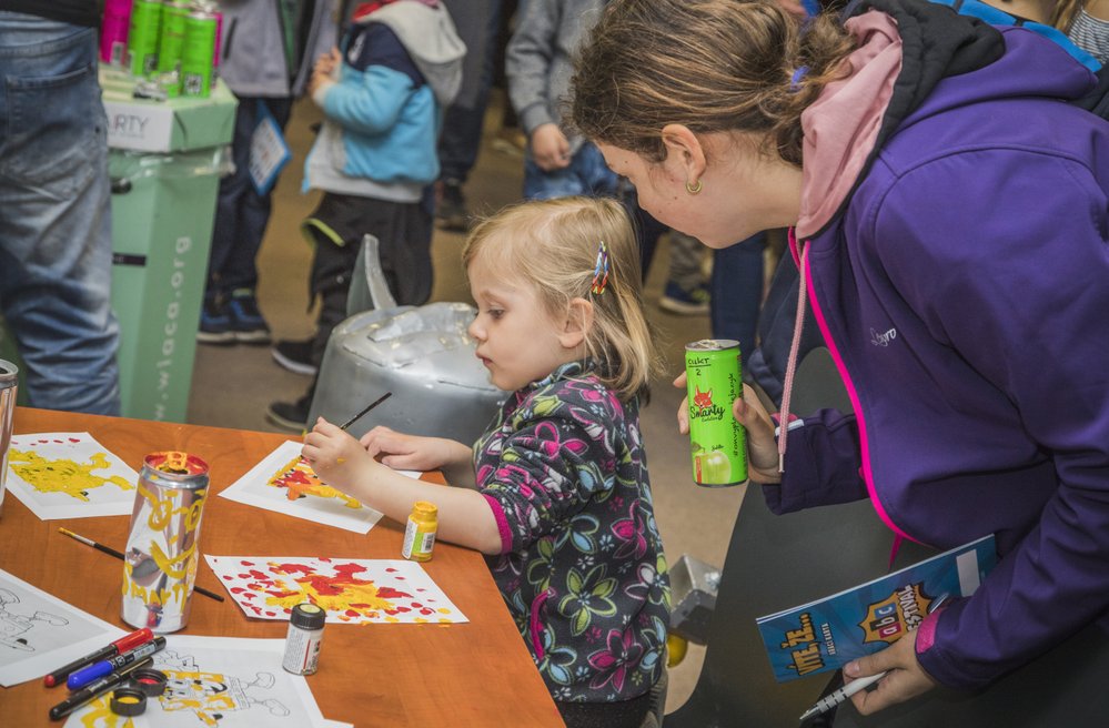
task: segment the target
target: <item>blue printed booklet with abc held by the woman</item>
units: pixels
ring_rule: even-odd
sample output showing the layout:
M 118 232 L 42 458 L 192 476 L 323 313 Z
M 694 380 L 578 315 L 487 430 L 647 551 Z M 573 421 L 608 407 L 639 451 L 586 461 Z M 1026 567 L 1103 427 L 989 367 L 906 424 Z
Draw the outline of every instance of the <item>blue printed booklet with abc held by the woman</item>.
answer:
M 860 586 L 759 617 L 774 677 L 786 683 L 885 649 L 915 629 L 936 599 L 974 594 L 995 564 L 989 535 Z

